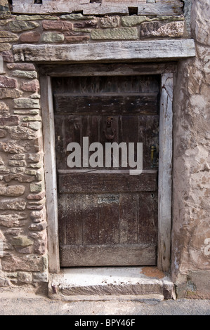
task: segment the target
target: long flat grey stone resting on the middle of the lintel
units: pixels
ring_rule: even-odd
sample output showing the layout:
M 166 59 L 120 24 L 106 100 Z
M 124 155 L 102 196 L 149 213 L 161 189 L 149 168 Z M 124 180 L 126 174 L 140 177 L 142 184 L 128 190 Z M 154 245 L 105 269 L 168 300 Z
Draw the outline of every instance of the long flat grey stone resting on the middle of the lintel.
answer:
M 138 38 L 136 27 L 117 27 L 116 29 L 94 29 L 91 32 L 91 38 L 94 40 L 132 40 Z

